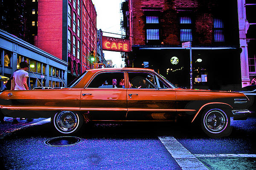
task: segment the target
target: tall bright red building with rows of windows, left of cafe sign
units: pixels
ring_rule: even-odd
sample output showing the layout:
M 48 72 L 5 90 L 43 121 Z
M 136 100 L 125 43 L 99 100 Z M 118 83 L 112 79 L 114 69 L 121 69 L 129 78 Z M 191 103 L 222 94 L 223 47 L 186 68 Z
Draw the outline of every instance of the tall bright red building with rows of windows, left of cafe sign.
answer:
M 91 0 L 38 0 L 35 45 L 68 62 L 68 82 L 92 68 L 96 51 L 96 10 Z

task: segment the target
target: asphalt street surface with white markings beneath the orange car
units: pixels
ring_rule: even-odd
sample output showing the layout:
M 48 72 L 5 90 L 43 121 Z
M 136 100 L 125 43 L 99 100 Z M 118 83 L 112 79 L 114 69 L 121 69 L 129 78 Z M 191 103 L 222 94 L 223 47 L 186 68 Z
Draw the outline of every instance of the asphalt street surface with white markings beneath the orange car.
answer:
M 256 118 L 232 121 L 233 133 L 222 139 L 211 139 L 182 123 L 88 124 L 72 135 L 81 142 L 62 147 L 45 144 L 63 136 L 49 119 L 22 120 L 17 125 L 6 120 L 0 124 L 3 170 L 256 169 Z

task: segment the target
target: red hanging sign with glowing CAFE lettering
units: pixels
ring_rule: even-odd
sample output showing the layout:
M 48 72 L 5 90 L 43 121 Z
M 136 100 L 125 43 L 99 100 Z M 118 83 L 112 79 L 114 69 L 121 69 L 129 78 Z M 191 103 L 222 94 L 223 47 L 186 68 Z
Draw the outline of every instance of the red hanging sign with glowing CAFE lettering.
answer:
M 102 50 L 130 52 L 130 40 L 102 36 Z

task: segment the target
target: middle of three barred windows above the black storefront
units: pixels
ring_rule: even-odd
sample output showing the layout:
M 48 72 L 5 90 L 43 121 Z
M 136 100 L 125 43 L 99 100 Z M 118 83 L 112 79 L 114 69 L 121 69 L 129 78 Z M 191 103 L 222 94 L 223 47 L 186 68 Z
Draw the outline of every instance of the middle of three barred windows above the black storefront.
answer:
M 191 17 L 180 17 L 180 41 L 192 41 Z

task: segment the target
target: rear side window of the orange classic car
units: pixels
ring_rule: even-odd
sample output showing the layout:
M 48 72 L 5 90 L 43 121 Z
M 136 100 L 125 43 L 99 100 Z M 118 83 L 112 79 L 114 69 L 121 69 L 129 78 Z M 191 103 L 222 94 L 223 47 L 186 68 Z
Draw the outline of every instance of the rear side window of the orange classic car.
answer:
M 90 82 L 87 88 L 124 88 L 118 82 L 124 79 L 123 72 L 104 72 L 99 73 Z

